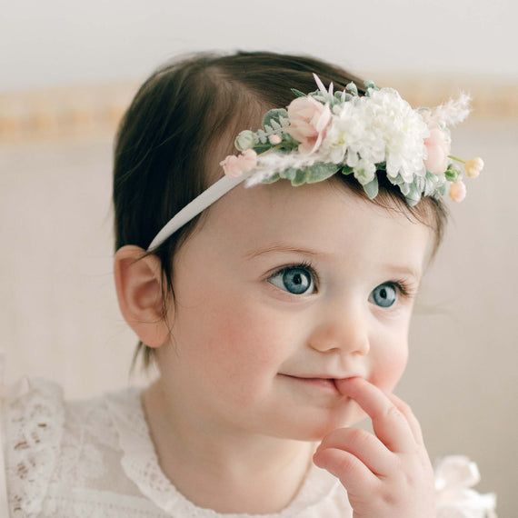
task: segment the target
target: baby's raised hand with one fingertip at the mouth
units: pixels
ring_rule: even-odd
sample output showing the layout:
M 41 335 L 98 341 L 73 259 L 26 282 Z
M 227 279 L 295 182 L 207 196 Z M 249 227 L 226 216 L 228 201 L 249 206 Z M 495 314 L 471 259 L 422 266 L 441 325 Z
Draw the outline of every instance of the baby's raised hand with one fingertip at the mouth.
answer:
M 363 378 L 340 381 L 338 388 L 371 417 L 375 436 L 334 430 L 314 463 L 344 484 L 354 518 L 433 518 L 433 468 L 410 406 Z

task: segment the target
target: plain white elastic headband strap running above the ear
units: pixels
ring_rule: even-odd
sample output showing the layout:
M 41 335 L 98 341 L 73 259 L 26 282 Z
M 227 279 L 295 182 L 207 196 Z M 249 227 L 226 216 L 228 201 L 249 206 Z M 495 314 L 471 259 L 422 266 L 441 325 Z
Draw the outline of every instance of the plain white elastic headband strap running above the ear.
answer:
M 186 204 L 181 211 L 174 214 L 174 217 L 154 236 L 147 250 L 154 250 L 154 248 L 163 244 L 169 236 L 173 235 L 179 228 L 182 228 L 184 224 L 190 222 L 194 216 L 203 212 L 208 206 L 214 204 L 214 202 L 219 200 L 224 194 L 234 189 L 236 185 L 241 184 L 251 173 L 252 171 L 244 173 L 238 178 L 231 178 L 230 176 L 220 178 L 202 194 L 196 196 L 192 202 Z

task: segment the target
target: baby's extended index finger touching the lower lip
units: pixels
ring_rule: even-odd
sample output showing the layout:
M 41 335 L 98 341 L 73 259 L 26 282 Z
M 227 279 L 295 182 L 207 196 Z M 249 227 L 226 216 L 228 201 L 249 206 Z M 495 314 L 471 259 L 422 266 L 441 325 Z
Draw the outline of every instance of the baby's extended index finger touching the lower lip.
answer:
M 406 416 L 381 389 L 360 377 L 338 380 L 336 385 L 369 415 L 374 433 L 391 452 L 413 451 L 415 440 Z

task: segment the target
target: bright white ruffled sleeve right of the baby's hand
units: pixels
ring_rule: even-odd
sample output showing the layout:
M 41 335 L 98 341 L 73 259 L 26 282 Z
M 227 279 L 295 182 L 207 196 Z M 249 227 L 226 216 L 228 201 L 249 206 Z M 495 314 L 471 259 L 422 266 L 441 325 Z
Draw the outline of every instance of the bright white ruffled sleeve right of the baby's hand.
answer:
M 462 455 L 450 455 L 435 464 L 437 518 L 496 518 L 494 493 L 477 493 L 477 465 Z

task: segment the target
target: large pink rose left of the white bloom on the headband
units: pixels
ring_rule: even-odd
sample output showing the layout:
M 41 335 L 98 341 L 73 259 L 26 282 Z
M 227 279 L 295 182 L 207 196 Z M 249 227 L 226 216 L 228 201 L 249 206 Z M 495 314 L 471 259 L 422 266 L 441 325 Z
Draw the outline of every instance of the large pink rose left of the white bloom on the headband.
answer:
M 290 125 L 287 132 L 299 142 L 299 152 L 314 153 L 322 144 L 331 124 L 331 110 L 310 95 L 297 97 L 288 106 Z

